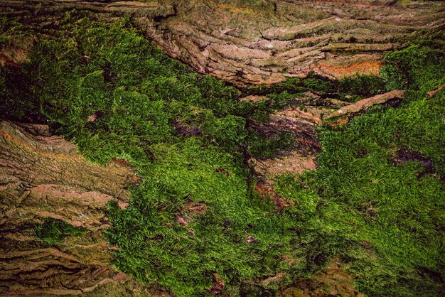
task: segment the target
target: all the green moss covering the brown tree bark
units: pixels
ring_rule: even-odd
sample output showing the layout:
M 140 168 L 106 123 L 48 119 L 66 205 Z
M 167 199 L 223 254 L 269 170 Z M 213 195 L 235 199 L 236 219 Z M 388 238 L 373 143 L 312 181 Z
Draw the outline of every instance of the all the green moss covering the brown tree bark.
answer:
M 256 280 L 279 271 L 289 284 L 340 257 L 370 296 L 443 289 L 445 90 L 426 93 L 444 84 L 441 50 L 391 53 L 380 77 L 289 80 L 253 104 L 168 58 L 129 19 L 74 11 L 53 34 L 21 68 L 1 68 L 0 104 L 5 117 L 48 120 L 91 161 L 132 164 L 141 183 L 129 207 L 108 210 L 120 271 L 176 296 L 211 295 L 217 274 L 237 296 L 256 294 Z M 291 139 L 267 142 L 250 121 L 293 104 L 292 93 L 355 100 L 398 87 L 409 92 L 397 109 L 374 107 L 343 129 L 321 129 L 317 171 L 277 178 L 277 195 L 294 205 L 279 210 L 254 190 L 246 157 L 272 156 Z M 56 244 L 80 232 L 64 224 L 45 222 L 36 236 Z

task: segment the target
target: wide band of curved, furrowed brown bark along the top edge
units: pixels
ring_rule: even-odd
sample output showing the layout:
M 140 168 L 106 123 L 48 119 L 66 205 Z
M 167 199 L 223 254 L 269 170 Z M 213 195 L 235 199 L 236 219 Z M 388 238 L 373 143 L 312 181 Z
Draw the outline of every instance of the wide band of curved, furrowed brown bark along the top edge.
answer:
M 32 13 L 132 13 L 154 43 L 200 73 L 235 85 L 273 83 L 313 70 L 331 78 L 377 74 L 413 31 L 445 24 L 441 1 L 3 1 Z M 30 15 L 31 11 L 31 15 Z M 34 20 L 35 21 L 35 20 Z

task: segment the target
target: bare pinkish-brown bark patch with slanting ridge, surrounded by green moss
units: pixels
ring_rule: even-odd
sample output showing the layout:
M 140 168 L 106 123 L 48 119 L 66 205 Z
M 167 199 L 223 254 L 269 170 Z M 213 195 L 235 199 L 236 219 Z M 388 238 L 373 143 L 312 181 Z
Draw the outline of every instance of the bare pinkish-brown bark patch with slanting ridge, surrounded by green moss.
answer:
M 316 129 L 319 124 L 343 125 L 374 105 L 397 105 L 403 97 L 404 91 L 395 90 L 361 99 L 353 104 L 336 99 L 326 99 L 330 102 L 329 108 L 320 108 L 313 105 L 320 97 L 311 92 L 296 95 L 297 102 L 306 102 L 305 110 L 295 107 L 283 109 L 276 114 L 271 114 L 267 123 L 261 126 L 252 125 L 256 131 L 266 136 L 290 132 L 294 136 L 296 144 L 292 148 L 278 153 L 278 156 L 274 158 L 252 158 L 254 169 L 262 176 L 262 182 L 266 185 L 272 185 L 274 176 L 279 174 L 297 175 L 313 170 L 316 168 L 316 154 L 321 152 L 321 146 L 316 138 Z M 241 99 L 256 102 L 267 98 L 265 96 L 247 96 Z M 324 117 L 321 117 L 322 114 Z M 333 119 L 335 122 L 331 123 Z

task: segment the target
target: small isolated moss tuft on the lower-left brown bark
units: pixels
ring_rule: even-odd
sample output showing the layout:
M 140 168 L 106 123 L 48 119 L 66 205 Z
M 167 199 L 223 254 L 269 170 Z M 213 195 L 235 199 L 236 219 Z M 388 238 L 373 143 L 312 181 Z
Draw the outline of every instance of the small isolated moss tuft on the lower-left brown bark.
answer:
M 80 236 L 89 232 L 82 227 L 74 227 L 73 225 L 55 219 L 45 219 L 43 224 L 37 224 L 33 229 L 36 240 L 45 242 L 46 245 L 61 244 L 68 236 Z

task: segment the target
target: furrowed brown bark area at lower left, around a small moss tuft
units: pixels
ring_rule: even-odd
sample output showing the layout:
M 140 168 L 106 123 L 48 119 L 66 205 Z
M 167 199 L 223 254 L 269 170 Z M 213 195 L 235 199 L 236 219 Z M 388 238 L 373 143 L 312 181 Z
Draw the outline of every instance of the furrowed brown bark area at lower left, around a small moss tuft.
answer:
M 102 237 L 104 207 L 124 203 L 134 173 L 123 166 L 101 167 L 77 154 L 76 147 L 48 126 L 0 122 L 0 294 L 80 294 L 104 288 L 142 286 L 112 269 L 112 255 Z M 48 247 L 32 229 L 45 218 L 86 227 L 82 237 L 68 237 Z

